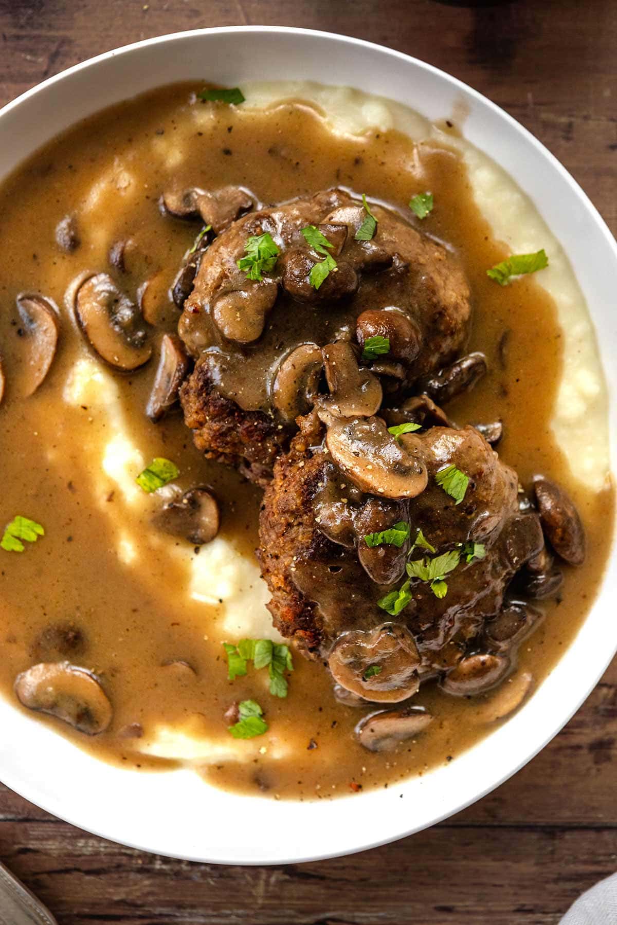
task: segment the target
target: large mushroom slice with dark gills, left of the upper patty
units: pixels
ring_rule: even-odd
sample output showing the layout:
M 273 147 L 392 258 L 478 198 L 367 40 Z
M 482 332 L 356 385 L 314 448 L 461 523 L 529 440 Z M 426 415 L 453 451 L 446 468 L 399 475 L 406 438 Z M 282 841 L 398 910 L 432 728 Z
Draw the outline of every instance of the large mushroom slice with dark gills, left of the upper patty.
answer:
M 86 338 L 110 366 L 131 372 L 148 362 L 152 347 L 142 313 L 106 273 L 80 282 L 74 308 Z

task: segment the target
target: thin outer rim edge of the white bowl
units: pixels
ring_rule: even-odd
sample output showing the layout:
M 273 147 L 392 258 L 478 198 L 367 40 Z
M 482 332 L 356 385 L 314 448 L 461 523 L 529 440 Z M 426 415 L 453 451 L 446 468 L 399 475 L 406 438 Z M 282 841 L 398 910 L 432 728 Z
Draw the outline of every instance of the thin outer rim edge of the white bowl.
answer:
M 9 113 L 17 109 L 20 105 L 23 105 L 25 102 L 27 102 L 31 98 L 36 97 L 40 93 L 43 93 L 49 87 L 54 86 L 56 83 L 66 80 L 71 75 L 74 75 L 76 73 L 79 73 L 80 71 L 85 71 L 89 68 L 92 68 L 94 65 L 100 62 L 103 62 L 107 59 L 114 58 L 117 56 L 128 56 L 131 53 L 136 52 L 147 46 L 152 46 L 152 45 L 165 46 L 167 45 L 167 43 L 175 43 L 178 41 L 187 40 L 191 38 L 198 38 L 200 36 L 233 35 L 233 34 L 246 34 L 246 33 L 282 34 L 282 35 L 288 35 L 288 36 L 297 36 L 300 38 L 313 37 L 315 39 L 325 40 L 327 43 L 339 43 L 341 46 L 352 45 L 352 46 L 355 46 L 356 48 L 365 49 L 373 53 L 378 52 L 382 56 L 395 58 L 404 63 L 412 64 L 416 68 L 421 68 L 422 70 L 425 70 L 426 72 L 435 76 L 439 80 L 447 81 L 448 83 L 450 83 L 450 85 L 453 88 L 461 91 L 464 95 L 466 96 L 471 95 L 471 97 L 475 100 L 476 103 L 481 104 L 483 107 L 487 107 L 490 111 L 492 111 L 494 115 L 498 116 L 500 120 L 505 120 L 513 130 L 515 130 L 520 136 L 524 138 L 525 142 L 527 142 L 528 144 L 531 144 L 536 149 L 536 151 L 539 154 L 541 154 L 549 162 L 549 166 L 553 170 L 557 171 L 561 175 L 561 178 L 566 181 L 570 191 L 572 192 L 572 194 L 574 194 L 574 196 L 577 197 L 577 199 L 579 200 L 579 203 L 583 206 L 586 213 L 592 217 L 593 223 L 595 224 L 598 231 L 602 234 L 605 240 L 605 244 L 610 249 L 615 266 L 617 267 L 617 242 L 614 240 L 611 234 L 611 231 L 608 228 L 606 222 L 604 221 L 602 216 L 600 216 L 598 209 L 593 203 L 591 203 L 589 198 L 586 196 L 586 193 L 582 190 L 582 188 L 577 183 L 577 181 L 571 176 L 571 174 L 566 170 L 566 168 L 561 165 L 561 162 L 553 154 L 551 154 L 549 150 L 542 144 L 542 142 L 539 142 L 537 138 L 528 129 L 525 129 L 524 126 L 521 125 L 516 119 L 514 119 L 507 112 L 505 112 L 505 110 L 501 109 L 500 106 L 496 105 L 491 100 L 487 99 L 486 96 L 484 96 L 481 93 L 478 93 L 477 91 L 475 91 L 475 89 L 465 84 L 462 80 L 452 77 L 448 72 L 443 71 L 440 68 L 436 68 L 433 65 L 427 64 L 426 62 L 422 61 L 419 58 L 406 55 L 395 49 L 388 48 L 387 46 L 380 45 L 378 43 L 367 42 L 364 39 L 358 39 L 352 36 L 347 36 L 347 35 L 343 35 L 339 33 L 333 33 L 333 32 L 328 32 L 328 31 L 321 31 L 321 30 L 299 29 L 297 27 L 291 27 L 291 26 L 263 26 L 263 25 L 248 26 L 247 25 L 247 26 L 217 26 L 217 27 L 206 28 L 206 29 L 177 31 L 177 32 L 167 33 L 164 35 L 154 36 L 149 39 L 144 39 L 140 42 L 130 43 L 127 45 L 120 46 L 118 48 L 110 49 L 109 51 L 106 51 L 100 55 L 88 58 L 84 61 L 81 61 L 80 63 L 76 65 L 73 65 L 70 68 L 67 68 L 59 72 L 53 77 L 43 80 L 41 83 L 36 84 L 34 87 L 31 87 L 31 89 L 25 91 L 24 93 L 20 93 L 19 96 L 17 96 L 14 100 L 11 100 L 4 107 L 2 107 L 2 109 L 0 109 L 0 131 L 2 130 L 2 125 L 3 125 L 3 121 L 5 117 Z M 167 81 L 164 81 L 164 82 L 167 82 Z M 163 83 L 161 85 L 163 85 Z M 133 94 L 128 94 L 126 98 L 130 98 L 130 95 L 133 95 Z M 93 114 L 97 111 L 99 111 L 98 108 L 93 109 Z M 48 140 L 51 140 L 51 138 L 53 137 L 54 137 L 54 134 L 50 134 L 48 136 Z M 35 149 L 31 149 L 30 154 L 32 154 L 34 150 Z M 607 375 L 608 377 L 609 369 L 607 368 L 606 364 L 602 364 L 602 365 L 603 365 L 605 375 Z M 612 401 L 611 401 L 611 404 L 612 404 Z M 611 454 L 611 456 L 612 455 L 613 454 Z M 615 549 L 615 536 L 613 534 L 609 561 L 611 561 L 611 559 L 613 558 L 614 549 Z M 605 585 L 605 583 L 606 583 L 606 575 L 602 580 L 602 587 Z M 592 606 L 595 606 L 595 605 L 592 605 Z M 574 638 L 574 640 L 572 641 L 568 649 L 571 649 L 574 647 L 575 641 L 576 640 Z M 574 706 L 573 704 L 570 704 L 567 714 L 560 715 L 559 722 L 552 727 L 552 730 L 546 735 L 546 737 L 544 737 L 541 741 L 534 743 L 532 751 L 530 752 L 525 751 L 523 759 L 519 760 L 518 763 L 512 764 L 512 767 L 510 767 L 508 771 L 502 773 L 497 780 L 494 780 L 488 785 L 482 787 L 482 789 L 478 791 L 477 793 L 475 793 L 473 796 L 469 796 L 468 798 L 463 799 L 463 801 L 458 802 L 455 806 L 453 807 L 449 806 L 448 808 L 445 808 L 442 812 L 436 815 L 435 818 L 429 822 L 425 822 L 420 825 L 408 825 L 401 820 L 401 822 L 399 822 L 398 824 L 394 824 L 392 826 L 392 832 L 389 833 L 387 836 L 379 837 L 377 839 L 366 838 L 359 842 L 356 841 L 354 842 L 353 845 L 348 846 L 344 849 L 340 849 L 339 847 L 334 848 L 334 849 L 325 848 L 324 850 L 321 850 L 319 852 L 312 851 L 309 854 L 302 853 L 302 851 L 300 853 L 296 852 L 295 854 L 292 853 L 292 854 L 282 854 L 282 855 L 280 852 L 278 853 L 271 852 L 271 854 L 267 855 L 266 857 L 249 857 L 249 856 L 238 857 L 237 854 L 231 853 L 231 854 L 225 855 L 224 851 L 223 852 L 218 851 L 217 857 L 204 857 L 202 853 L 200 853 L 199 855 L 196 855 L 196 854 L 192 854 L 191 852 L 183 853 L 178 850 L 169 851 L 169 850 L 166 850 L 165 848 L 156 847 L 154 845 L 143 844 L 142 842 L 140 842 L 139 839 L 135 841 L 131 841 L 130 839 L 127 839 L 125 837 L 122 837 L 120 839 L 118 838 L 117 835 L 105 833 L 105 830 L 103 828 L 98 828 L 88 823 L 84 824 L 79 819 L 74 818 L 72 811 L 68 811 L 68 808 L 65 810 L 65 808 L 61 806 L 59 807 L 57 804 L 57 801 L 55 802 L 55 800 L 51 798 L 51 796 L 46 799 L 41 799 L 39 796 L 35 797 L 36 805 L 43 808 L 45 811 L 52 813 L 56 817 L 62 820 L 68 821 L 70 824 L 77 826 L 87 832 L 98 835 L 99 837 L 118 840 L 121 842 L 121 844 L 129 845 L 130 847 L 137 848 L 143 851 L 165 854 L 167 855 L 167 857 L 179 857 L 179 858 L 186 859 L 186 860 L 193 860 L 193 861 L 207 862 L 207 863 L 221 863 L 221 864 L 234 864 L 234 865 L 241 864 L 241 865 L 251 866 L 251 865 L 266 865 L 266 864 L 281 864 L 281 863 L 302 863 L 305 861 L 321 860 L 321 859 L 325 859 L 328 857 L 339 857 L 342 855 L 352 855 L 354 853 L 364 851 L 364 850 L 367 850 L 369 848 L 373 848 L 379 845 L 389 844 L 390 842 L 396 841 L 400 838 L 404 838 L 410 834 L 422 831 L 423 829 L 429 826 L 432 826 L 444 819 L 447 819 L 450 816 L 452 816 L 454 813 L 457 813 L 461 811 L 462 809 L 475 803 L 477 800 L 481 799 L 483 796 L 487 796 L 488 793 L 490 793 L 492 790 L 500 786 L 501 783 L 504 783 L 506 780 L 512 777 L 514 773 L 519 771 L 522 767 L 524 767 L 524 765 L 528 761 L 533 759 L 537 755 L 537 753 L 542 748 L 544 748 L 544 746 L 546 746 L 556 734 L 558 734 L 561 731 L 563 726 L 567 722 L 569 722 L 569 720 L 574 715 L 574 712 L 580 708 L 582 703 L 586 700 L 586 697 L 589 696 L 591 691 L 598 684 L 598 680 L 600 679 L 602 674 L 605 672 L 608 665 L 611 663 L 611 660 L 613 658 L 614 651 L 616 648 L 617 648 L 617 641 L 615 642 L 615 646 L 613 648 L 609 647 L 605 650 L 603 658 L 598 660 L 598 668 L 596 669 L 596 671 L 593 672 L 591 682 L 585 685 L 582 693 L 579 692 L 576 700 L 574 701 Z M 563 653 L 563 656 L 561 657 L 561 659 L 563 659 L 566 656 L 566 654 L 567 654 L 567 650 Z M 25 721 L 36 722 L 36 721 L 32 721 L 30 717 L 23 717 L 22 719 Z M 503 732 L 503 730 L 505 730 L 507 725 L 508 724 L 501 726 L 500 729 L 496 730 L 496 732 L 491 734 L 489 737 L 492 738 L 492 737 L 498 736 L 500 734 L 500 731 Z M 122 770 L 121 773 L 127 774 L 127 773 L 130 773 L 130 771 Z M 136 772 L 136 773 L 140 773 L 140 772 Z M 6 776 L 4 769 L 0 769 L 0 778 L 3 780 L 4 783 L 6 783 L 7 786 L 9 786 L 16 793 L 18 793 L 19 796 L 22 796 L 28 800 L 32 799 L 32 797 L 28 793 L 28 787 L 26 786 L 22 789 L 22 786 L 19 780 L 11 779 L 10 774 Z M 401 783 L 401 786 L 404 786 L 405 783 L 408 783 L 408 781 Z M 375 794 L 375 791 L 366 792 L 363 795 L 354 796 L 353 798 L 356 800 L 358 798 L 367 800 L 367 798 L 371 796 L 371 793 Z M 237 796 L 234 795 L 234 798 L 237 799 Z M 282 802 L 283 801 L 281 801 L 281 803 Z M 337 803 L 340 803 L 340 802 L 341 802 L 340 800 L 337 800 Z M 351 807 L 352 804 L 350 803 L 349 799 L 345 802 L 347 802 Z M 308 801 L 307 805 L 311 807 L 311 806 L 315 806 L 315 803 L 313 801 Z

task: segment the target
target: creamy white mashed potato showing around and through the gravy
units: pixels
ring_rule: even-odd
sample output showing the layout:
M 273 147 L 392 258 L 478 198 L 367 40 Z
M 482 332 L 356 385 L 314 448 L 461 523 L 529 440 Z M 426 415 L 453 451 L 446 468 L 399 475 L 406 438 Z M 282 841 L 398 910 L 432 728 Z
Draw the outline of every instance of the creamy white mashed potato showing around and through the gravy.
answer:
M 537 277 L 537 282 L 557 304 L 564 339 L 563 376 L 552 427 L 573 474 L 597 490 L 604 487 L 610 471 L 607 394 L 586 303 L 561 245 L 512 178 L 473 145 L 444 135 L 425 117 L 384 98 L 306 81 L 253 82 L 243 84 L 241 89 L 247 108 L 271 107 L 284 100 L 304 100 L 315 105 L 337 133 L 361 135 L 368 129 L 399 129 L 414 142 L 437 139 L 460 149 L 475 201 L 495 237 L 503 240 L 512 253 L 528 253 L 543 247 L 549 254 L 549 267 Z M 213 119 L 209 107 L 194 106 L 191 115 L 201 130 L 208 130 Z M 181 164 L 181 144 L 167 140 L 167 136 L 155 137 L 152 143 L 153 154 L 164 158 L 170 169 Z M 137 191 L 130 170 L 130 154 L 126 158 L 117 157 L 113 168 L 93 184 L 80 216 L 93 241 L 93 253 L 97 250 L 103 253 L 105 247 L 110 198 L 119 193 L 130 203 Z M 147 517 L 154 510 L 153 499 L 135 482 L 148 461 L 130 432 L 117 383 L 92 359 L 80 359 L 68 376 L 64 401 L 75 407 L 87 405 L 93 415 L 93 439 L 83 448 L 89 470 L 103 474 L 93 484 L 93 495 L 113 521 L 118 559 L 127 568 L 138 568 L 140 544 L 131 535 L 131 518 L 127 513 Z M 113 505 L 105 502 L 110 487 L 118 500 Z M 172 498 L 174 491 L 171 486 L 160 489 L 156 503 Z M 199 556 L 193 554 L 188 544 L 182 546 L 155 531 L 148 536 L 148 542 L 153 548 L 165 549 L 167 556 L 182 564 L 192 600 L 217 607 L 216 623 L 208 620 L 209 611 L 204 607 L 204 635 L 221 641 L 243 636 L 281 641 L 265 609 L 269 592 L 256 561 L 241 556 L 228 540 L 216 537 Z M 214 739 L 205 733 L 199 717 L 191 717 L 174 727 L 160 723 L 145 730 L 140 747 L 144 754 L 197 764 L 249 761 L 265 752 L 269 758 L 279 759 L 287 751 L 271 735 L 261 736 L 257 741 L 239 741 L 224 735 Z

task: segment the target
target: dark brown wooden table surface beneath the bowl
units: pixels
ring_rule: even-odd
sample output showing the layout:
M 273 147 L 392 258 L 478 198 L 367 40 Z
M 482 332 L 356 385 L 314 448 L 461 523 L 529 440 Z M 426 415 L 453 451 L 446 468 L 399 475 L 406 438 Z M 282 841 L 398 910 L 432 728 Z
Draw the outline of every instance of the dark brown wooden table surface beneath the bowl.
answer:
M 343 32 L 444 68 L 531 129 L 617 232 L 615 0 L 0 0 L 0 104 L 117 45 L 243 23 Z M 192 864 L 112 845 L 0 787 L 0 858 L 60 925 L 549 925 L 617 869 L 616 737 L 613 664 L 511 781 L 394 845 L 272 868 Z

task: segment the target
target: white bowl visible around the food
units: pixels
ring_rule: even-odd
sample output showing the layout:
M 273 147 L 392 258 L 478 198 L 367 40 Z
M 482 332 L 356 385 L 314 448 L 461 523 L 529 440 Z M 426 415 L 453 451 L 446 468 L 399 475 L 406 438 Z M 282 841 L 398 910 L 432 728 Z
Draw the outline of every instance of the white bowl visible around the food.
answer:
M 421 61 L 327 32 L 259 26 L 181 32 L 128 45 L 45 80 L 0 112 L 0 178 L 81 117 L 167 82 L 204 79 L 229 86 L 256 79 L 327 80 L 382 94 L 431 119 L 450 116 L 463 101 L 469 108 L 467 139 L 531 196 L 574 266 L 602 333 L 611 434 L 617 433 L 615 241 L 574 179 L 529 132 L 459 80 Z M 611 559 L 574 643 L 523 709 L 447 767 L 388 790 L 332 802 L 275 802 L 217 791 L 191 771 L 121 771 L 7 702 L 0 702 L 0 778 L 83 829 L 174 857 L 265 864 L 380 845 L 473 803 L 560 731 L 617 649 L 616 589 L 617 562 Z

